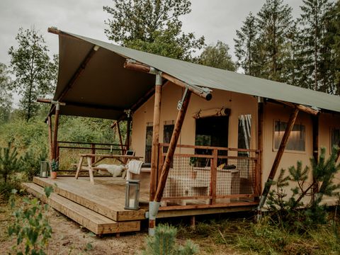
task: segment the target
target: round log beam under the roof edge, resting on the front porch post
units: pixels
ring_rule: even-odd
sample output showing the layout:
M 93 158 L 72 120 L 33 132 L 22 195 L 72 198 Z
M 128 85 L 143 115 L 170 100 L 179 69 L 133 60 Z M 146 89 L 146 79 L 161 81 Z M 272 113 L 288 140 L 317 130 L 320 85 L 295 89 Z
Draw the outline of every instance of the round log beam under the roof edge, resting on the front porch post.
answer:
M 152 73 L 152 70 L 154 70 L 153 67 L 148 67 L 144 64 L 132 62 L 129 60 L 125 61 L 124 68 L 145 73 Z M 180 79 L 177 79 L 176 77 L 173 77 L 170 74 L 166 74 L 164 72 L 161 73 L 161 76 L 162 78 L 167 79 L 168 81 L 171 81 L 172 83 L 181 86 L 184 89 L 188 89 L 188 91 L 191 91 L 193 92 L 193 94 L 205 98 L 208 101 L 212 98 L 212 94 L 210 93 L 210 91 L 205 91 L 205 89 L 202 89 L 199 86 L 186 84 L 186 82 L 181 81 Z

